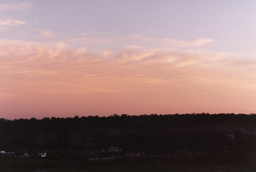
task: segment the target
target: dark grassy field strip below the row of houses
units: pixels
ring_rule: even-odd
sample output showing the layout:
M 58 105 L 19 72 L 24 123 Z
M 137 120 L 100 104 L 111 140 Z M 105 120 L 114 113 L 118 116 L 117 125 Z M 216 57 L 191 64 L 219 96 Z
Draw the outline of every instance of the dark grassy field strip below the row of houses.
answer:
M 237 158 L 119 158 L 107 160 L 0 159 L 1 171 L 256 171 L 254 160 Z

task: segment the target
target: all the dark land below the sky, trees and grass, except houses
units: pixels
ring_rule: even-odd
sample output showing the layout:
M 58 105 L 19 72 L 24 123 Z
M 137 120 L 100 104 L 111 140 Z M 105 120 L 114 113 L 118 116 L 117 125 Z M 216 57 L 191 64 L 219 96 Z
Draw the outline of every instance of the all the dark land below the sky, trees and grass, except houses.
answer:
M 255 171 L 256 114 L 1 118 L 0 151 L 17 155 L 1 158 L 5 170 Z M 24 152 L 29 158 L 20 159 Z

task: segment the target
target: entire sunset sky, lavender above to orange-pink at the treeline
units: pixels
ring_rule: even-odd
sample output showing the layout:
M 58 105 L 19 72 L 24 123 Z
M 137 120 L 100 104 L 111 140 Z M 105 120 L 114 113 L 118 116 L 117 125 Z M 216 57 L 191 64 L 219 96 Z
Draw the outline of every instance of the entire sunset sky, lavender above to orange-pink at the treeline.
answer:
M 0 0 L 0 117 L 256 113 L 256 1 Z

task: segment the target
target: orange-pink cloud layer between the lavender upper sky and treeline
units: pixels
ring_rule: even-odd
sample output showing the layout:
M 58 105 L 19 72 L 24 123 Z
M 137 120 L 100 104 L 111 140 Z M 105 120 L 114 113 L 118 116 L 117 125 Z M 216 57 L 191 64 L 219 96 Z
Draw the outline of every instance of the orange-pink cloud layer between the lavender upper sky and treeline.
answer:
M 3 40 L 0 51 L 7 119 L 256 111 L 255 62 L 229 53 L 137 46 L 88 53 Z

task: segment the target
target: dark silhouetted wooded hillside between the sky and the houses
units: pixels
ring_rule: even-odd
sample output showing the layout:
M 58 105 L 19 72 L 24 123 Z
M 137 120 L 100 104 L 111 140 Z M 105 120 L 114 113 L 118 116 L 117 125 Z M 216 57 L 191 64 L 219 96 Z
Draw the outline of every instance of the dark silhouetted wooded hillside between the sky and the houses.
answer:
M 124 152 L 168 154 L 190 150 L 253 152 L 256 114 L 166 114 L 44 119 L 0 119 L 0 149 L 93 150 L 109 146 Z M 233 133 L 234 139 L 227 137 Z

